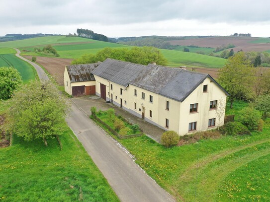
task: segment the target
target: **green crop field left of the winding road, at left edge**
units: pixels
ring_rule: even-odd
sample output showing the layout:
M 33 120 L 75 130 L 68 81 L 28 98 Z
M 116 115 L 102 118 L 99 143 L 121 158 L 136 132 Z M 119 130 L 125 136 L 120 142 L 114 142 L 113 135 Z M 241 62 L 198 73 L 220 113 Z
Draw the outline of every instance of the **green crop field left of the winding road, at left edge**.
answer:
M 0 53 L 12 53 L 12 50 L 14 49 L 0 49 Z M 0 54 L 0 67 L 16 68 L 20 72 L 24 83 L 34 79 L 36 75 L 36 72 L 31 65 L 17 58 L 14 54 Z

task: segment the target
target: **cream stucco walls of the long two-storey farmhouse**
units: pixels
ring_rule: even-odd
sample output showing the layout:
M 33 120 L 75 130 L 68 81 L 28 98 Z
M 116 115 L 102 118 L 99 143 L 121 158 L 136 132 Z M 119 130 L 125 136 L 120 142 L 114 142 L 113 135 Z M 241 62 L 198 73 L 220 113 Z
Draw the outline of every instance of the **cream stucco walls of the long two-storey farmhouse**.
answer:
M 191 94 L 182 102 L 158 95 L 151 91 L 139 88 L 134 85 L 128 87 L 110 82 L 99 76 L 96 79 L 96 95 L 100 96 L 100 83 L 106 85 L 106 100 L 120 107 L 120 99 L 122 99 L 122 107 L 126 111 L 142 118 L 142 110 L 144 107 L 145 120 L 164 130 L 176 131 L 179 135 L 189 134 L 188 125 L 191 122 L 197 122 L 196 131 L 205 131 L 214 129 L 218 125 L 216 109 L 210 110 L 210 101 L 218 100 L 218 104 L 222 101 L 222 106 L 226 104 L 226 94 L 220 89 L 211 79 L 206 78 Z M 111 89 L 112 84 L 112 89 Z M 208 85 L 207 92 L 203 92 L 203 85 Z M 123 89 L 122 95 L 120 88 Z M 137 95 L 134 94 L 134 89 L 137 90 Z M 145 98 L 142 98 L 142 92 L 145 93 Z M 153 96 L 153 102 L 150 102 L 150 95 Z M 116 98 L 117 97 L 117 98 Z M 126 101 L 126 103 L 125 103 Z M 166 101 L 170 102 L 170 109 L 166 109 Z M 136 109 L 135 105 L 136 103 Z M 198 110 L 195 113 L 189 113 L 190 104 L 198 103 Z M 152 117 L 150 117 L 150 110 Z M 216 118 L 215 127 L 208 128 L 208 120 Z M 169 120 L 169 127 L 166 128 L 166 119 Z M 224 123 L 224 115 L 220 120 L 220 126 Z M 194 131 L 192 131 L 194 132 Z

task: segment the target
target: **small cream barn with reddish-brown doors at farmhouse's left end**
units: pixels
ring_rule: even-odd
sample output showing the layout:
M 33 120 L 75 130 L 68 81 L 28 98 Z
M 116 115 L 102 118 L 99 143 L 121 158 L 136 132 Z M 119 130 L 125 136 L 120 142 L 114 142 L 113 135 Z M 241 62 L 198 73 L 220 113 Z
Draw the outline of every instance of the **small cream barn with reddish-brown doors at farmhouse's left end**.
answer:
M 100 64 L 101 62 L 66 66 L 64 72 L 65 91 L 73 97 L 94 95 L 95 78 L 92 70 Z

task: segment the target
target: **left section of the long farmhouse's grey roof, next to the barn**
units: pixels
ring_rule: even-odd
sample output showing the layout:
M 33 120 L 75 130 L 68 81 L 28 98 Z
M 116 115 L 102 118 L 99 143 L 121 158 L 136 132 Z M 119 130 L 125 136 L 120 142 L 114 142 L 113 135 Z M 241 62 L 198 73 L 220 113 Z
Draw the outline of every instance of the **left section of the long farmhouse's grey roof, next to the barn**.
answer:
M 145 67 L 144 65 L 106 59 L 92 73 L 126 87 Z

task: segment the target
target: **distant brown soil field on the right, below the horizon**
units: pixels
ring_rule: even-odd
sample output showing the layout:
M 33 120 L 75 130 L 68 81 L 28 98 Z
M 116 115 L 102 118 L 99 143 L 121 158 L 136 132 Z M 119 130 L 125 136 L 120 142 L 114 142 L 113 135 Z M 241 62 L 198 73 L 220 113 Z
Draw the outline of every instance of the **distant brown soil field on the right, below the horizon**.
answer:
M 241 49 L 247 51 L 267 51 L 270 50 L 270 44 L 252 44 L 249 41 L 257 40 L 257 37 L 206 37 L 197 39 L 184 39 L 176 41 L 168 41 L 172 45 L 180 46 L 198 46 L 198 47 L 211 47 L 216 48 L 218 46 L 233 44 L 236 47 L 233 48 L 234 52 Z

